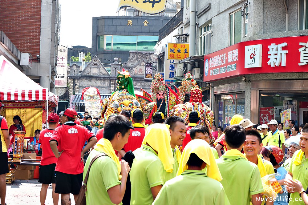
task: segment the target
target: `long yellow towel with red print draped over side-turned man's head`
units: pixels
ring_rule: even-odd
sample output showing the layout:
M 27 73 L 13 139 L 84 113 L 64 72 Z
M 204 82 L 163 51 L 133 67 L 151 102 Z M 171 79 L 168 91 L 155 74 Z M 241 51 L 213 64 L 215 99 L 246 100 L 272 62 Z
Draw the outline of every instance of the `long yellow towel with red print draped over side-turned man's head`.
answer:
M 170 125 L 155 123 L 145 129 L 145 135 L 142 144 L 148 143 L 158 152 L 158 158 L 164 165 L 167 172 L 173 171 L 174 159 L 170 145 Z

